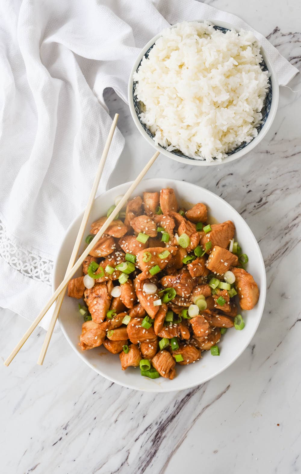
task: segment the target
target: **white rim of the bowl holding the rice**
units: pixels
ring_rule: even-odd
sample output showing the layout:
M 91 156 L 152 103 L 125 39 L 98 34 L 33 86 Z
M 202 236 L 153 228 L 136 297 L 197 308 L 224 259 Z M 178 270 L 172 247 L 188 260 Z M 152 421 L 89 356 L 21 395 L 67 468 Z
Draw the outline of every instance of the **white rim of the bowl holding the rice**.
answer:
M 191 22 L 203 22 L 203 21 L 208 21 L 208 22 L 212 23 L 212 25 L 217 26 L 217 27 L 224 27 L 224 28 L 228 28 L 228 29 L 234 29 L 237 32 L 243 30 L 243 28 L 238 28 L 238 27 L 235 27 L 234 25 L 232 25 L 231 23 L 228 23 L 226 21 L 219 21 L 219 20 L 204 20 L 204 19 L 202 19 L 202 20 L 189 20 L 189 23 L 191 23 Z M 171 25 L 170 28 L 173 28 L 175 26 L 176 26 L 176 24 Z M 164 30 L 162 30 L 162 31 L 164 31 Z M 227 163 L 229 163 L 231 161 L 234 161 L 234 160 L 237 160 L 238 158 L 241 158 L 242 156 L 249 153 L 251 150 L 253 150 L 253 148 L 255 148 L 256 145 L 258 145 L 258 143 L 261 142 L 261 140 L 265 137 L 268 130 L 271 128 L 272 123 L 274 122 L 274 118 L 276 116 L 276 112 L 277 112 L 277 108 L 278 108 L 278 102 L 279 102 L 279 85 L 278 85 L 277 74 L 276 74 L 274 66 L 273 66 L 272 62 L 270 61 L 264 47 L 260 46 L 260 52 L 261 52 L 261 55 L 263 56 L 266 67 L 267 67 L 267 69 L 270 73 L 271 88 L 272 88 L 271 108 L 270 108 L 268 116 L 265 120 L 265 124 L 264 124 L 263 128 L 260 130 L 260 132 L 258 133 L 258 135 L 255 138 L 253 138 L 253 140 L 250 143 L 248 143 L 241 150 L 233 153 L 230 156 L 227 156 L 227 158 L 223 158 L 222 160 L 213 160 L 213 161 L 207 162 L 206 160 L 189 159 L 189 158 L 183 158 L 182 156 L 173 155 L 173 153 L 167 151 L 164 147 L 159 146 L 159 145 L 155 145 L 154 140 L 152 140 L 152 138 L 150 138 L 147 135 L 146 131 L 141 126 L 141 123 L 140 123 L 140 121 L 137 117 L 137 113 L 136 113 L 135 106 L 134 106 L 134 99 L 133 99 L 133 83 L 134 83 L 133 74 L 137 70 L 137 67 L 138 67 L 141 59 L 143 58 L 143 56 L 146 54 L 146 51 L 155 43 L 155 41 L 160 36 L 162 36 L 162 31 L 160 33 L 158 33 L 157 35 L 155 35 L 146 44 L 146 46 L 144 46 L 144 48 L 140 51 L 134 65 L 132 67 L 130 75 L 129 75 L 129 80 L 128 80 L 128 105 L 129 105 L 130 113 L 131 113 L 131 116 L 134 120 L 134 123 L 135 123 L 137 129 L 139 130 L 139 132 L 141 133 L 141 135 L 146 139 L 146 141 L 151 146 L 153 146 L 157 151 L 162 153 L 162 155 L 165 155 L 168 158 L 172 158 L 173 160 L 178 161 L 179 163 L 189 164 L 189 165 L 192 165 L 192 166 L 216 166 L 216 165 L 221 165 L 221 164 L 227 164 Z

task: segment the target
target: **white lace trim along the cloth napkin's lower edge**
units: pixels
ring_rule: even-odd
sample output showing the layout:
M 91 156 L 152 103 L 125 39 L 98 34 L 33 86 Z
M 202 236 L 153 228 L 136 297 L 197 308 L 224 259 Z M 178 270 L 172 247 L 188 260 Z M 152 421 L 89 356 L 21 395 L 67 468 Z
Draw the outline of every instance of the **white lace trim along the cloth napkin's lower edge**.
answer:
M 37 282 L 51 285 L 53 261 L 17 247 L 0 220 L 0 256 L 15 270 Z

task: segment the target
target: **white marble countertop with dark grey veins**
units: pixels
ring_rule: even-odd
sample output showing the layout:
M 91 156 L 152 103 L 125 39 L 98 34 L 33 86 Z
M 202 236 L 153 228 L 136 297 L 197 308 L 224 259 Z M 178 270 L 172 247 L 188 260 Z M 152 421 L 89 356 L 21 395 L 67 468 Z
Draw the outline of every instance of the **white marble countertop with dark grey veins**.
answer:
M 207 1 L 236 13 L 301 66 L 301 5 Z M 264 256 L 267 297 L 242 356 L 210 382 L 152 394 L 111 383 L 89 369 L 59 331 L 36 365 L 39 328 L 9 366 L 0 366 L 1 472 L 6 474 L 215 473 L 301 471 L 300 186 L 301 76 L 280 89 L 274 124 L 246 158 L 196 168 L 161 155 L 148 173 L 200 184 L 246 219 Z M 126 139 L 110 187 L 134 179 L 153 152 L 128 106 L 107 91 Z M 4 360 L 28 322 L 0 310 Z M 4 428 L 4 429 L 3 429 Z

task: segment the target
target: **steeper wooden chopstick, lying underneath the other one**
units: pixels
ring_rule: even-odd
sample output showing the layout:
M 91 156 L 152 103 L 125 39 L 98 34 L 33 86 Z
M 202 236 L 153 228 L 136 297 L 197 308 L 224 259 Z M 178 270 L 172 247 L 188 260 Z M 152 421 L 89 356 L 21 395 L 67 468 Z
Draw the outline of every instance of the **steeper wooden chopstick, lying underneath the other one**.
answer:
M 92 186 L 91 193 L 90 193 L 90 196 L 89 196 L 89 199 L 88 199 L 87 207 L 86 207 L 85 212 L 82 216 L 82 223 L 81 223 L 81 226 L 79 228 L 79 231 L 78 231 L 78 234 L 77 234 L 77 237 L 76 237 L 76 240 L 75 240 L 75 244 L 74 244 L 73 251 L 72 251 L 72 254 L 71 254 L 71 257 L 70 257 L 70 261 L 69 261 L 69 264 L 67 266 L 66 274 L 71 270 L 71 268 L 73 267 L 73 265 L 76 261 L 77 254 L 79 252 L 79 249 L 80 249 L 80 246 L 81 246 L 81 243 L 82 243 L 82 237 L 84 236 L 84 232 L 85 232 L 85 229 L 87 227 L 87 222 L 88 222 L 88 219 L 90 217 L 92 205 L 93 205 L 95 195 L 96 195 L 96 192 L 97 192 L 97 189 L 98 189 L 98 186 L 99 186 L 101 174 L 102 174 L 104 165 L 106 163 L 106 159 L 107 159 L 108 152 L 109 152 L 109 147 L 112 143 L 112 138 L 113 138 L 113 135 L 114 135 L 114 132 L 115 132 L 115 129 L 116 129 L 118 118 L 119 118 L 119 114 L 115 114 L 114 120 L 112 122 L 110 131 L 109 131 L 109 135 L 108 135 L 108 138 L 107 138 L 107 141 L 106 141 L 106 144 L 105 144 L 105 147 L 103 149 L 103 152 L 102 152 L 102 155 L 101 155 L 101 158 L 100 158 L 100 163 L 99 163 L 98 170 L 97 170 L 94 182 L 93 182 L 93 186 Z M 47 330 L 47 334 L 46 334 L 46 337 L 44 339 L 44 343 L 43 343 L 43 346 L 42 346 L 42 349 L 41 349 L 41 352 L 40 352 L 40 356 L 37 360 L 37 363 L 39 365 L 43 365 L 43 362 L 44 362 L 44 359 L 45 359 L 45 356 L 46 356 L 46 352 L 47 352 L 47 349 L 48 349 L 48 346 L 49 346 L 49 343 L 50 343 L 50 339 L 52 337 L 52 334 L 53 334 L 53 331 L 54 331 L 54 328 L 55 328 L 55 323 L 56 323 L 56 320 L 58 318 L 58 314 L 60 312 L 60 309 L 61 309 L 61 306 L 62 306 L 62 303 L 63 303 L 63 300 L 64 300 L 64 296 L 65 296 L 65 293 L 63 291 L 59 295 L 58 299 L 56 300 L 55 310 L 53 312 L 53 315 L 52 315 L 52 318 L 51 318 L 51 321 L 50 321 L 50 324 L 49 324 L 49 327 L 48 327 L 48 330 Z

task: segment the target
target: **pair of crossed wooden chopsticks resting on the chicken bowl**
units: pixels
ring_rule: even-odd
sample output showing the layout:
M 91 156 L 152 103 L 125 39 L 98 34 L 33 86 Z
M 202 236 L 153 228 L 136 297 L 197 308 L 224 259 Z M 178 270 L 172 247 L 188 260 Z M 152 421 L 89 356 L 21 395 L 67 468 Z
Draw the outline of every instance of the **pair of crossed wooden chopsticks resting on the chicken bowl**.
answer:
M 90 193 L 90 196 L 89 196 L 89 200 L 88 200 L 86 210 L 85 210 L 84 215 L 82 217 L 82 223 L 81 223 L 80 229 L 78 231 L 78 235 L 77 235 L 76 240 L 75 240 L 75 244 L 74 244 L 74 247 L 73 247 L 73 251 L 72 251 L 72 254 L 71 254 L 71 257 L 70 257 L 70 262 L 68 264 L 64 280 L 58 286 L 58 288 L 55 290 L 55 292 L 53 293 L 50 300 L 46 303 L 46 305 L 41 310 L 41 312 L 36 317 L 36 319 L 33 321 L 31 326 L 27 329 L 24 336 L 20 339 L 17 346 L 13 349 L 11 354 L 8 356 L 8 358 L 4 362 L 4 365 L 6 365 L 6 366 L 9 366 L 11 361 L 18 354 L 21 347 L 27 341 L 28 337 L 32 334 L 32 332 L 34 331 L 36 326 L 39 324 L 41 319 L 43 319 L 46 312 L 49 310 L 49 308 L 52 306 L 52 304 L 57 299 L 56 304 L 55 304 L 55 310 L 54 310 L 54 313 L 52 315 L 50 325 L 49 325 L 49 328 L 48 328 L 48 331 L 47 331 L 47 334 L 46 334 L 46 337 L 45 337 L 45 340 L 44 340 L 44 343 L 43 343 L 43 347 L 42 347 L 40 356 L 39 356 L 38 361 L 37 361 L 37 363 L 39 365 L 43 365 L 43 362 L 44 362 L 44 359 L 45 359 L 45 356 L 46 356 L 46 352 L 47 352 L 47 349 L 48 349 L 48 346 L 49 346 L 49 343 L 50 343 L 50 339 L 52 337 L 52 334 L 53 334 L 53 331 L 54 331 L 54 328 L 55 328 L 55 323 L 56 323 L 56 320 L 58 318 L 58 314 L 59 314 L 59 311 L 61 309 L 61 306 L 62 306 L 62 303 L 63 303 L 63 300 L 64 300 L 64 294 L 65 294 L 64 290 L 65 290 L 67 284 L 69 283 L 69 280 L 73 277 L 74 273 L 80 268 L 80 266 L 82 265 L 82 262 L 84 261 L 86 256 L 89 255 L 92 248 L 95 246 L 95 244 L 97 244 L 100 237 L 105 233 L 105 231 L 109 227 L 109 224 L 116 218 L 119 211 L 127 203 L 128 199 L 130 198 L 131 194 L 133 193 L 133 191 L 135 190 L 135 188 L 137 187 L 139 182 L 144 178 L 145 174 L 147 173 L 149 168 L 152 166 L 152 164 L 155 162 L 156 158 L 160 154 L 159 152 L 156 152 L 155 155 L 152 156 L 152 158 L 149 160 L 149 162 L 143 168 L 141 173 L 139 173 L 139 175 L 137 176 L 135 181 L 130 185 L 130 187 L 128 188 L 128 191 L 125 193 L 125 195 L 123 196 L 123 198 L 121 199 L 119 204 L 116 206 L 116 208 L 113 210 L 113 212 L 110 214 L 110 216 L 108 217 L 108 219 L 106 220 L 104 225 L 97 232 L 97 234 L 95 235 L 95 237 L 93 238 L 91 243 L 87 246 L 87 248 L 83 251 L 82 255 L 76 261 L 77 254 L 78 254 L 80 245 L 82 243 L 82 237 L 84 235 L 85 228 L 87 226 L 87 222 L 88 222 L 88 219 L 89 219 L 89 216 L 90 216 L 90 213 L 91 213 L 91 208 L 92 208 L 92 205 L 93 205 L 93 202 L 94 202 L 94 199 L 95 199 L 95 194 L 96 194 L 99 182 L 100 182 L 101 173 L 103 171 L 103 167 L 104 167 L 104 164 L 106 162 L 106 159 L 107 159 L 107 156 L 108 156 L 108 153 L 109 153 L 109 147 L 110 147 L 111 142 L 112 142 L 112 138 L 113 138 L 113 135 L 114 135 L 114 131 L 115 131 L 115 128 L 116 128 L 116 125 L 117 125 L 118 118 L 119 118 L 119 114 L 115 114 L 114 120 L 112 122 L 110 131 L 109 131 L 109 136 L 108 136 L 108 139 L 106 141 L 106 145 L 104 147 L 103 153 L 102 153 L 101 158 L 100 158 L 100 164 L 99 164 L 96 176 L 95 176 L 95 180 L 93 182 L 93 186 L 92 186 L 92 189 L 91 189 L 91 193 Z

